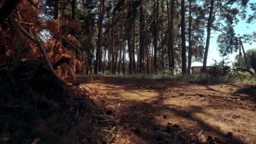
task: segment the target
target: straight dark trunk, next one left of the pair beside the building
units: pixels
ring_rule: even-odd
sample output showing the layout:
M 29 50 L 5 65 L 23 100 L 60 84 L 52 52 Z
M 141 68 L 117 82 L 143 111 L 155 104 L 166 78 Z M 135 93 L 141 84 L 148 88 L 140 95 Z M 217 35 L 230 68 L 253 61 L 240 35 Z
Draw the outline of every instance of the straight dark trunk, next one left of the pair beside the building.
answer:
M 175 7 L 174 7 L 174 0 L 171 0 L 171 20 L 170 20 L 170 33 L 171 33 L 171 39 L 170 39 L 170 45 L 171 45 L 171 68 L 172 72 L 174 72 L 175 67 L 175 58 L 174 58 L 174 16 L 175 16 Z

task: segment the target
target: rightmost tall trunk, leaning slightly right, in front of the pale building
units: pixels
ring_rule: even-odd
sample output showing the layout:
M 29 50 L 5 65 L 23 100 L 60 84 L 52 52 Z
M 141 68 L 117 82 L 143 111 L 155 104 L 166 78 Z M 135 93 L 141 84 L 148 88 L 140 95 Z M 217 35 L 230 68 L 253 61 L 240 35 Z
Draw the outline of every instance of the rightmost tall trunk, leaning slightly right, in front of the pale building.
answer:
M 211 0 L 211 8 L 210 8 L 208 24 L 207 24 L 207 38 L 206 38 L 206 45 L 205 45 L 205 55 L 203 57 L 203 72 L 206 72 L 207 56 L 208 56 L 210 38 L 211 38 L 211 25 L 212 25 L 212 19 L 213 19 L 213 11 L 214 11 L 214 0 Z

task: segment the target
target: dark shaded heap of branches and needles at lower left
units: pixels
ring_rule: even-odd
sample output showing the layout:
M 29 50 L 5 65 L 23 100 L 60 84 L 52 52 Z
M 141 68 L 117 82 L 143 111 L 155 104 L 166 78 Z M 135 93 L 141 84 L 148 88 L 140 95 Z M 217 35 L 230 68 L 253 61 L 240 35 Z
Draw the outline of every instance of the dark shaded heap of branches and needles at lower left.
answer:
M 18 62 L 0 62 L 0 144 L 93 141 L 98 109 L 89 91 L 61 83 L 37 60 Z

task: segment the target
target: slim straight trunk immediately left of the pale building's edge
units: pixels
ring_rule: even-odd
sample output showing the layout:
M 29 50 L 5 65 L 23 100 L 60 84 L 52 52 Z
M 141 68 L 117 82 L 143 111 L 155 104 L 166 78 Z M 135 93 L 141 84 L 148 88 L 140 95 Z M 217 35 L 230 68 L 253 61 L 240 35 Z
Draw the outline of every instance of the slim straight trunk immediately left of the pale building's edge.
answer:
M 188 66 L 187 66 L 187 73 L 190 74 L 191 64 L 192 64 L 192 40 L 191 40 L 191 33 L 192 33 L 192 0 L 189 0 L 189 55 L 188 55 Z

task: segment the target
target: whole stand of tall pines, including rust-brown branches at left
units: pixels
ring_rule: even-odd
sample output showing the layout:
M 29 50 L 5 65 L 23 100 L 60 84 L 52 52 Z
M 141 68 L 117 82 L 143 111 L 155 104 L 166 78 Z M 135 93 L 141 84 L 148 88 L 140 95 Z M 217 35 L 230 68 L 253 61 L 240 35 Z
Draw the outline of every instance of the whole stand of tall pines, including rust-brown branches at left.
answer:
M 2 54 L 42 57 L 62 78 L 84 74 L 190 73 L 207 65 L 212 32 L 221 56 L 237 51 L 234 31 L 248 0 L 1 0 Z M 245 41 L 253 34 L 244 35 Z M 42 46 L 42 48 L 38 48 Z M 42 51 L 41 51 L 42 52 Z

